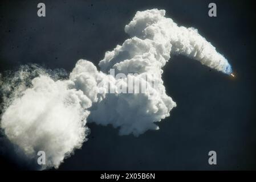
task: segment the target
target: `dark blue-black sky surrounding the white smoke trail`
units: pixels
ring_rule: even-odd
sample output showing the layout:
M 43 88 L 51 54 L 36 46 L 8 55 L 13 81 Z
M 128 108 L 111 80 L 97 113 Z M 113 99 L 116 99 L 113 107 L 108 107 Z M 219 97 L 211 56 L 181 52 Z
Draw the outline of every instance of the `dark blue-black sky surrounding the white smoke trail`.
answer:
M 46 4 L 46 17 L 37 4 Z M 217 17 L 208 16 L 215 2 Z M 0 72 L 37 63 L 70 72 L 77 60 L 95 64 L 122 44 L 124 26 L 137 10 L 165 9 L 166 16 L 196 27 L 232 65 L 237 77 L 184 56 L 164 68 L 166 92 L 177 102 L 160 130 L 140 137 L 112 126 L 88 124 L 81 150 L 59 169 L 256 169 L 255 10 L 251 1 L 1 1 Z M 1 169 L 30 169 L 0 140 Z M 208 152 L 217 152 L 217 165 Z

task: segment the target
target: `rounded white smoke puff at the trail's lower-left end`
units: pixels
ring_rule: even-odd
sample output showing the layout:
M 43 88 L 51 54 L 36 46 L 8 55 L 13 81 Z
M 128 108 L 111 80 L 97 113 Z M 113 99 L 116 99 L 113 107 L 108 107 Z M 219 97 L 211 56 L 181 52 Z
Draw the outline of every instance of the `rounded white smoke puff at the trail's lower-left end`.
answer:
M 2 115 L 1 127 L 11 142 L 34 158 L 46 152 L 46 166 L 58 167 L 64 157 L 79 148 L 87 132 L 86 110 L 91 100 L 70 89 L 70 81 L 54 81 L 47 75 L 32 80 Z

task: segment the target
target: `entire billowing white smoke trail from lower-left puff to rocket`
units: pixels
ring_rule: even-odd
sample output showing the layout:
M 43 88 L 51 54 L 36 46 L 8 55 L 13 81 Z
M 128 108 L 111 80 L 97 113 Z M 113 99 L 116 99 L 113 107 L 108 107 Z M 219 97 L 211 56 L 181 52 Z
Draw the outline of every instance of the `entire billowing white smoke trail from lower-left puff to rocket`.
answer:
M 86 140 L 87 118 L 111 124 L 120 135 L 159 129 L 156 122 L 176 107 L 161 79 L 171 53 L 231 73 L 229 63 L 212 44 L 196 29 L 178 27 L 165 18 L 164 10 L 138 11 L 125 32 L 131 38 L 105 53 L 100 71 L 90 61 L 79 60 L 66 79 L 36 68 L 38 76 L 31 77 L 31 69 L 22 69 L 14 81 L 3 81 L 2 90 L 10 92 L 8 97 L 4 94 L 1 118 L 6 137 L 31 159 L 40 150 L 46 152 L 46 167 L 58 168 Z

